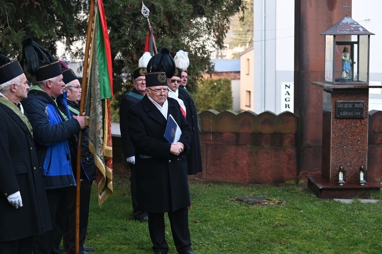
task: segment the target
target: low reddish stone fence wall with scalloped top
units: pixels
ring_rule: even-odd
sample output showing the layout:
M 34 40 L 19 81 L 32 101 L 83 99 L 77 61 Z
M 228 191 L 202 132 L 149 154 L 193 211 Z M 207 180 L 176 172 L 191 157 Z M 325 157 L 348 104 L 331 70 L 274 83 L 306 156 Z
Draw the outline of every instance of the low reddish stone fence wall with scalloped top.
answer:
M 291 112 L 208 110 L 199 114 L 199 128 L 203 172 L 191 178 L 278 184 L 306 182 L 307 174 L 321 173 L 321 165 L 300 168 L 299 117 Z M 123 162 L 118 137 L 113 137 L 113 154 Z M 382 179 L 382 111 L 369 112 L 367 170 L 369 179 Z

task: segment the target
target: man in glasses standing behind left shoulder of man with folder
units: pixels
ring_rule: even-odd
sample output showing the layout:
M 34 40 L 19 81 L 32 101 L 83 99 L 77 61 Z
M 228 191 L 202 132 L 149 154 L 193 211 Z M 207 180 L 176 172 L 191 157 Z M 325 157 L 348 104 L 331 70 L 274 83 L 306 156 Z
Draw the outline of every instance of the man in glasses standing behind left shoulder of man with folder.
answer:
M 134 219 L 141 222 L 147 221 L 149 217 L 146 212 L 140 211 L 138 209 L 137 201 L 137 185 L 135 184 L 135 150 L 132 145 L 131 139 L 129 137 L 128 131 L 128 121 L 127 121 L 127 110 L 131 105 L 139 102 L 146 94 L 146 67 L 138 67 L 133 71 L 134 81 L 132 85 L 134 88 L 127 92 L 123 99 L 121 100 L 121 105 L 119 109 L 119 127 L 121 130 L 121 138 L 123 145 L 123 153 L 126 158 L 127 163 L 130 168 L 130 191 L 131 191 L 131 202 L 132 202 L 132 215 Z

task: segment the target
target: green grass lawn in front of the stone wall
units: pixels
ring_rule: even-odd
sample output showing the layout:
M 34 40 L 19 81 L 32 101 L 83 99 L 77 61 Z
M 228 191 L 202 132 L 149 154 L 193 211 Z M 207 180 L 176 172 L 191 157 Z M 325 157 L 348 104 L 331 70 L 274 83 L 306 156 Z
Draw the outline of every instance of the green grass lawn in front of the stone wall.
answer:
M 302 185 L 258 186 L 189 182 L 192 248 L 198 253 L 382 253 L 382 203 L 321 200 Z M 129 181 L 98 207 L 93 185 L 87 246 L 95 253 L 152 253 L 147 223 L 132 218 Z M 252 205 L 236 197 L 277 204 Z M 379 199 L 377 197 L 371 197 Z M 177 253 L 167 221 L 169 253 Z

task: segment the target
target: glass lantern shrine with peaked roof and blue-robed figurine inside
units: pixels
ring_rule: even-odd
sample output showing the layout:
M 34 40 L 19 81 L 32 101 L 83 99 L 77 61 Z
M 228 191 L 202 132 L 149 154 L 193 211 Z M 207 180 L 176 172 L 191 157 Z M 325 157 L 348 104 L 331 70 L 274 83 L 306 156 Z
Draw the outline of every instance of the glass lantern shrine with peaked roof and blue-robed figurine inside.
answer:
M 325 36 L 325 83 L 369 84 L 370 35 L 345 16 L 321 35 Z

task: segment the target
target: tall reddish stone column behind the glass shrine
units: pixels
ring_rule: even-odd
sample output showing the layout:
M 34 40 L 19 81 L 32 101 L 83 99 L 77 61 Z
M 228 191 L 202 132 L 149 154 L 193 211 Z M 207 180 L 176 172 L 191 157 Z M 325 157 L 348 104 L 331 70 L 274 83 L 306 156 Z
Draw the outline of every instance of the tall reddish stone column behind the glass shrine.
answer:
M 321 173 L 322 88 L 324 36 L 320 35 L 346 15 L 351 0 L 295 0 L 294 113 L 300 119 L 299 175 Z M 348 11 L 351 16 L 351 9 Z M 303 179 L 306 180 L 306 179 Z

